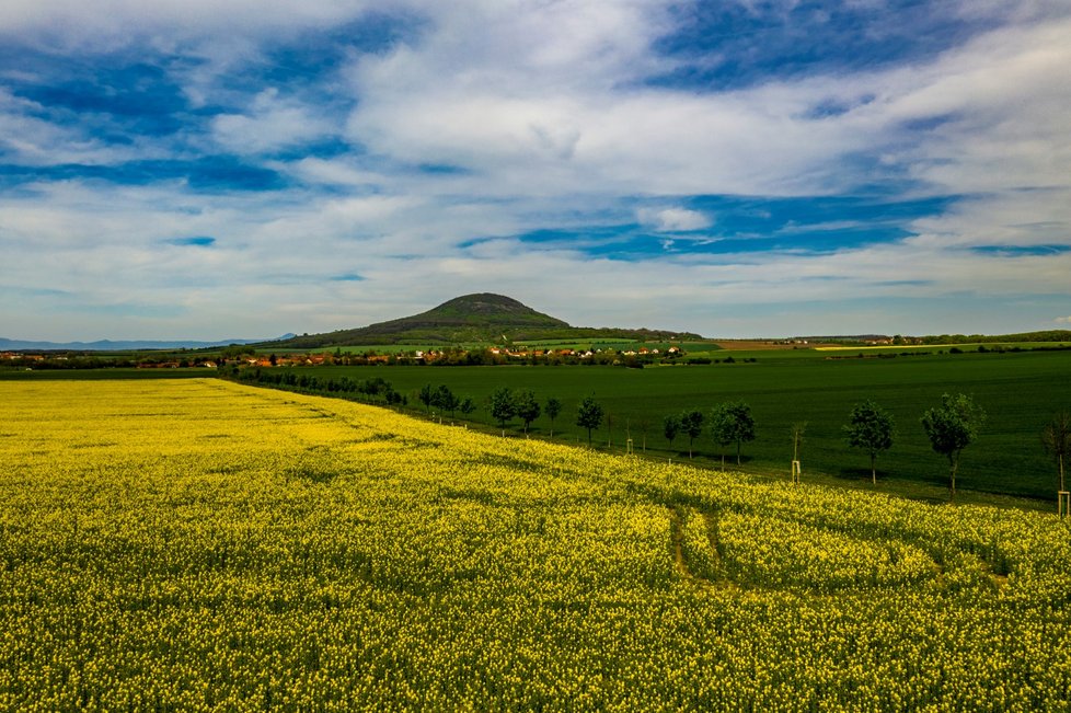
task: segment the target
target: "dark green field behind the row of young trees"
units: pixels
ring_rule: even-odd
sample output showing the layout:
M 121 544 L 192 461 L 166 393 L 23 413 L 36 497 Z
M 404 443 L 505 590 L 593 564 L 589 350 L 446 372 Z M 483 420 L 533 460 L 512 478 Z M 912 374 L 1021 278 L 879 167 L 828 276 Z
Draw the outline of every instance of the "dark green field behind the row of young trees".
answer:
M 750 356 L 757 361 L 742 363 Z M 421 387 L 447 384 L 481 404 L 473 417 L 488 426 L 492 422 L 483 404 L 495 389 L 531 390 L 540 401 L 549 396 L 562 400 L 564 407 L 554 423 L 554 434 L 567 442 L 586 441 L 586 432 L 574 422 L 577 404 L 591 394 L 610 414 L 609 433 L 603 424 L 595 434 L 596 441 L 612 442 L 620 451 L 627 428 L 635 448 L 641 449 L 646 421 L 648 455 L 675 460 L 688 457 L 688 439 L 679 436 L 670 448 L 661 433 L 664 416 L 683 409 L 706 413 L 715 403 L 744 400 L 751 405 L 757 423 L 757 438 L 742 451 L 746 468 L 787 474 L 792 460 L 790 429 L 793 423 L 806 422 L 804 476 L 822 473 L 845 483 L 870 482 L 868 457 L 848 448 L 841 427 L 856 402 L 873 399 L 892 413 L 898 430 L 892 449 L 878 458 L 879 487 L 922 483 L 931 490 L 947 484 L 947 462 L 932 451 L 919 419 L 923 411 L 940 403 L 943 393 L 964 392 L 986 410 L 988 419 L 978 441 L 964 451 L 959 485 L 1039 498 L 1055 508 L 1056 468 L 1040 447 L 1039 434 L 1057 412 L 1071 410 L 1071 352 L 827 356 L 790 349 L 741 353 L 734 364 L 647 369 L 336 367 L 302 373 L 382 377 L 408 394 L 411 405 L 417 407 Z M 513 430 L 519 427 L 515 421 Z M 532 425 L 534 436 L 546 437 L 550 430 L 545 416 Z M 719 463 L 721 447 L 709 436 L 698 439 L 694 449 L 699 462 Z M 733 459 L 729 462 L 735 464 Z

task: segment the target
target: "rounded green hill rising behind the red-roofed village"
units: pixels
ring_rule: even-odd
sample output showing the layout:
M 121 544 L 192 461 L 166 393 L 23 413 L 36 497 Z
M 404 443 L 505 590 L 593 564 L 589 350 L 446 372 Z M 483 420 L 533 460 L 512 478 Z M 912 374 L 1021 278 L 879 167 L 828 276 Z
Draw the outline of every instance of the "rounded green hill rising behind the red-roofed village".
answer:
M 504 295 L 464 295 L 438 307 L 354 330 L 273 342 L 272 346 L 322 348 L 378 344 L 503 344 L 537 340 L 699 340 L 698 334 L 663 330 L 571 326 Z

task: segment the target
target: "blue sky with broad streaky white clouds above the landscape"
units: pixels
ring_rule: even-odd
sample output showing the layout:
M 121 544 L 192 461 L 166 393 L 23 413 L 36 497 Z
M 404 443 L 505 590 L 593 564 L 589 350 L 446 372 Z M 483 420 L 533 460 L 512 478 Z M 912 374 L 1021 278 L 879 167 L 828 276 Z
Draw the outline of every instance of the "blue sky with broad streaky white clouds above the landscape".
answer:
M 1066 0 L 4 0 L 0 336 L 1071 329 Z

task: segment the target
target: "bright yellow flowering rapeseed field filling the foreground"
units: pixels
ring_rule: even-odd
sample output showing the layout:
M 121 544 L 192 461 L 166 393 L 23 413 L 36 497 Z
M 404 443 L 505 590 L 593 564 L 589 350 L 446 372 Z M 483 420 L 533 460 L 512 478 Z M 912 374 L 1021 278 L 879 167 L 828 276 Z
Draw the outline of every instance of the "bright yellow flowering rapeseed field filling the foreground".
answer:
M 0 398 L 3 710 L 1071 705 L 1055 515 L 219 380 Z

